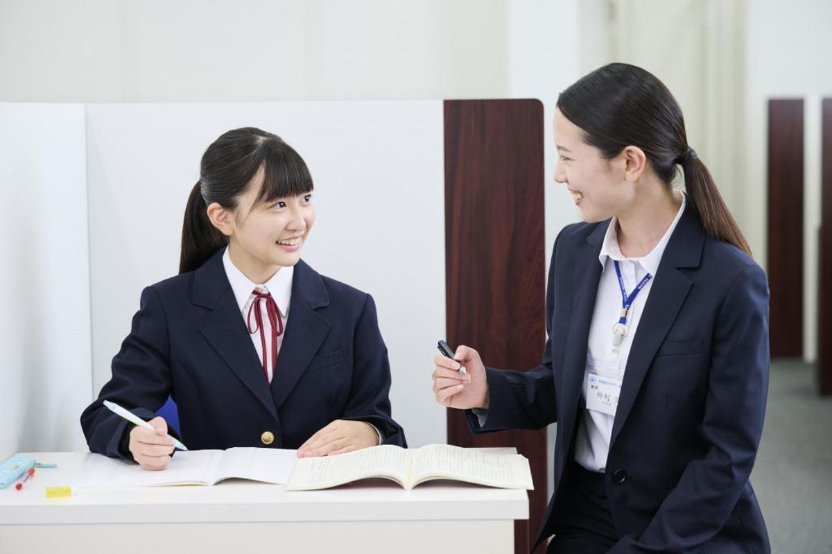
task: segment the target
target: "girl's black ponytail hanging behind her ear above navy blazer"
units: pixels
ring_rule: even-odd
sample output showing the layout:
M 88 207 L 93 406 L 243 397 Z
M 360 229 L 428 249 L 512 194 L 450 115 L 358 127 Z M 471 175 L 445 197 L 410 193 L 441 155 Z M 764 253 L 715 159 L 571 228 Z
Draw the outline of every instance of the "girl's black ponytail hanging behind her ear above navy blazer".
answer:
M 206 201 L 202 198 L 202 181 L 196 185 L 188 196 L 185 208 L 185 220 L 182 222 L 182 250 L 179 258 L 179 272 L 196 270 L 208 259 L 228 244 L 228 239 L 211 225 L 206 212 Z

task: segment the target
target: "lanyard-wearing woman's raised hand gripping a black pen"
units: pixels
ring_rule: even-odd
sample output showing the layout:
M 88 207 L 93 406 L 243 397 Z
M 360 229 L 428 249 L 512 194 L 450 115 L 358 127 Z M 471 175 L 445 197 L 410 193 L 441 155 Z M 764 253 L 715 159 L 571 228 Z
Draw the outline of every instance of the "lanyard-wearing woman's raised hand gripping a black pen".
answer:
M 467 375 L 459 373 L 465 365 Z M 433 394 L 436 401 L 448 408 L 488 408 L 488 381 L 479 354 L 467 346 L 459 346 L 453 359 L 438 355 L 433 359 Z

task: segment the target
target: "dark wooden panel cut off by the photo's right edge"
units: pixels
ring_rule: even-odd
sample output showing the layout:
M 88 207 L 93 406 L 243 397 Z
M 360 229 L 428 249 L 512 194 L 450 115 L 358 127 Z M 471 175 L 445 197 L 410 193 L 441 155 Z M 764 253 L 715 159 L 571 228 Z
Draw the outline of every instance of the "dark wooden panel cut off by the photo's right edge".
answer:
M 832 394 L 832 98 L 824 99 L 822 112 L 818 386 L 822 395 L 828 395 Z

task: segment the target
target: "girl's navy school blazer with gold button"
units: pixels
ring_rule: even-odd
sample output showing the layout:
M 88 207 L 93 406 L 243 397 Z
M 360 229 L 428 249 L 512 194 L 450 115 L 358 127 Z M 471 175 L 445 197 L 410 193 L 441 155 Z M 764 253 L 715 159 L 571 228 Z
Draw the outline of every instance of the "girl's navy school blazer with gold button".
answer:
M 264 447 L 265 431 L 275 436 L 270 448 L 298 448 L 335 419 L 372 423 L 385 443 L 404 447 L 404 431 L 390 417 L 389 388 L 373 299 L 302 260 L 269 385 L 220 250 L 198 270 L 142 292 L 112 378 L 81 424 L 92 452 L 131 459 L 126 421 L 102 401 L 149 420 L 171 394 L 191 449 Z

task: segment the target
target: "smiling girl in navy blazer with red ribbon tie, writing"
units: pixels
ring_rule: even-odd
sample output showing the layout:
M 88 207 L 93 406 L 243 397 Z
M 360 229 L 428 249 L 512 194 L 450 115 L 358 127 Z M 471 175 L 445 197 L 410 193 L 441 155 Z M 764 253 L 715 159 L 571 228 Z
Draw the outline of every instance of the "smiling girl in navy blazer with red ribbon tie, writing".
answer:
M 92 452 L 146 469 L 171 461 L 155 412 L 171 395 L 188 448 L 299 448 L 300 456 L 405 446 L 375 304 L 300 260 L 312 178 L 280 137 L 228 131 L 202 156 L 180 275 L 147 287 L 112 378 L 82 414 Z M 155 431 L 129 426 L 110 400 Z

